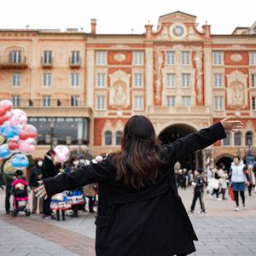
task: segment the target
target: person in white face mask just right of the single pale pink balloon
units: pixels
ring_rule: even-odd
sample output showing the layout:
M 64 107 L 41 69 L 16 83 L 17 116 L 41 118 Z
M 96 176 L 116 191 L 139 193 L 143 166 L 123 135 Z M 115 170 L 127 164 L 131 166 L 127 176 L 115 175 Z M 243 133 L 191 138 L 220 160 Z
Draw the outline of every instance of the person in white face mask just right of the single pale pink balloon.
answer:
M 70 173 L 79 167 L 79 158 L 76 155 L 70 159 L 69 164 L 67 165 L 65 172 Z M 72 205 L 73 214 L 71 217 L 77 218 L 79 217 L 79 206 L 84 204 L 83 198 L 83 188 L 75 189 L 73 191 L 67 191 L 67 197 Z

